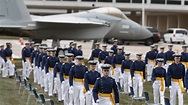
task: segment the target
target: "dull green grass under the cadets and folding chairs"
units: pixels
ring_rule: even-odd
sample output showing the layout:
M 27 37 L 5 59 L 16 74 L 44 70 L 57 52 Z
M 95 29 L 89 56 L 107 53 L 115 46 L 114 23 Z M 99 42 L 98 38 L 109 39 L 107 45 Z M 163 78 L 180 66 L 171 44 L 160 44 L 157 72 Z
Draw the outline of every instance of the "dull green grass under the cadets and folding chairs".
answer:
M 21 67 L 21 60 L 16 60 L 16 67 L 20 68 Z M 21 71 L 19 71 L 19 74 L 21 74 Z M 48 97 L 47 93 L 44 93 L 43 89 L 35 83 L 33 83 L 33 73 L 31 73 L 31 77 L 29 82 L 32 84 L 33 87 L 37 88 L 38 93 L 43 93 L 46 98 Z M 16 90 L 14 90 L 14 79 L 10 78 L 2 78 L 0 76 L 0 105 L 25 105 L 27 96 L 28 96 L 28 91 L 26 91 L 26 94 L 22 96 L 22 91 L 21 90 L 21 95 L 18 95 L 18 87 L 19 84 L 16 85 Z M 22 88 L 23 89 L 23 88 Z M 144 83 L 144 91 L 149 92 L 150 95 L 150 102 L 153 102 L 153 89 L 152 89 L 152 82 L 145 82 Z M 165 97 L 169 97 L 169 90 L 166 89 L 165 92 Z M 187 93 L 184 94 L 184 105 L 188 105 L 188 100 L 186 100 L 188 97 Z M 62 103 L 59 103 L 57 100 L 57 97 L 52 97 L 51 99 L 54 100 L 55 105 L 63 105 Z M 35 98 L 34 96 L 31 96 L 30 104 L 29 105 L 34 105 L 35 103 Z M 125 95 L 120 95 L 120 105 L 129 105 L 129 96 Z M 141 105 L 141 102 L 137 101 L 134 102 L 133 105 Z

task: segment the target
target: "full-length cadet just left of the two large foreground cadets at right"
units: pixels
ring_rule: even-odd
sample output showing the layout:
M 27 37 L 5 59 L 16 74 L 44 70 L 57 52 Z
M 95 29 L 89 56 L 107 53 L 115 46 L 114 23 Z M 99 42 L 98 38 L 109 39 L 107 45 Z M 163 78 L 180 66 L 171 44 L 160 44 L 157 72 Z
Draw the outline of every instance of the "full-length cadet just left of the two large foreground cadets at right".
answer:
M 135 60 L 131 66 L 131 78 L 133 80 L 135 97 L 141 97 L 143 92 L 143 82 L 145 82 L 145 63 L 142 61 L 142 54 L 136 55 L 137 60 Z

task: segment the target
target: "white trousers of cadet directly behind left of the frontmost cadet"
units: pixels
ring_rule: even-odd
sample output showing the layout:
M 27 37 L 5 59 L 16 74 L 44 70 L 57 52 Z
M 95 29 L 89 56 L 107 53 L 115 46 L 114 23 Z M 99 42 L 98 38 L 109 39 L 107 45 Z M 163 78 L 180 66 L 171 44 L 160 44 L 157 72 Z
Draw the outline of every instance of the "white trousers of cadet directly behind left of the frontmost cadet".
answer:
M 93 88 L 90 88 L 90 94 L 86 93 L 86 105 L 95 105 L 95 101 L 92 95 Z

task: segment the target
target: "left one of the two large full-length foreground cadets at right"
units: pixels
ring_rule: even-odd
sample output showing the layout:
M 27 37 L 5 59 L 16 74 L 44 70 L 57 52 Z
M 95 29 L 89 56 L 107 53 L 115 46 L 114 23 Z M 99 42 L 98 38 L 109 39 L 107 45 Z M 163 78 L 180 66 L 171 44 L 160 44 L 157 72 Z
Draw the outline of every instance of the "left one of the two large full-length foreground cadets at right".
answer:
M 163 68 L 164 59 L 158 58 L 157 67 L 153 69 L 152 81 L 153 81 L 153 95 L 154 103 L 165 105 L 164 102 L 164 92 L 165 92 L 165 80 L 166 80 L 166 69 Z

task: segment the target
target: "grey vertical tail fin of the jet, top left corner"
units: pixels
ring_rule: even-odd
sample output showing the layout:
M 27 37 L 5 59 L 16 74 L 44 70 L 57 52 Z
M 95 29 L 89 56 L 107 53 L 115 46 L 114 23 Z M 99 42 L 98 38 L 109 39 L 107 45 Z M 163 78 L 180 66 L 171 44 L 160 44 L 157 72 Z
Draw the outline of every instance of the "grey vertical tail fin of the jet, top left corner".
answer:
M 0 0 L 0 20 L 31 21 L 23 0 Z

